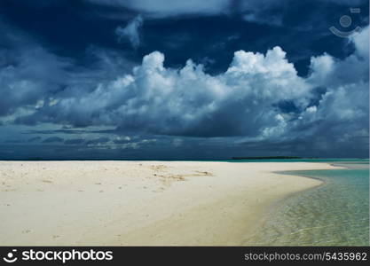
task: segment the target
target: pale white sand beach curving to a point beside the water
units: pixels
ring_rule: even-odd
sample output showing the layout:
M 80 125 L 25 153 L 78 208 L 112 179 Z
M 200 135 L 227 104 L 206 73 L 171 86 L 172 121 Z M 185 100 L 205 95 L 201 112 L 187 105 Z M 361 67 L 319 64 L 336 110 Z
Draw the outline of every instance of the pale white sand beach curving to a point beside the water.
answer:
M 238 246 L 311 162 L 0 161 L 1 246 Z

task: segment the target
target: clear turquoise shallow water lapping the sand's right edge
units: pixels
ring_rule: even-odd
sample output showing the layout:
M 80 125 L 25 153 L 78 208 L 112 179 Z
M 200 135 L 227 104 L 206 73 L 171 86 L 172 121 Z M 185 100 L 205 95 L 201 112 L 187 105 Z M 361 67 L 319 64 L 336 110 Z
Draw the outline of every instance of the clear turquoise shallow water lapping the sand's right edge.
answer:
M 286 172 L 325 184 L 281 200 L 244 244 L 369 246 L 368 160 L 332 162 L 349 168 Z

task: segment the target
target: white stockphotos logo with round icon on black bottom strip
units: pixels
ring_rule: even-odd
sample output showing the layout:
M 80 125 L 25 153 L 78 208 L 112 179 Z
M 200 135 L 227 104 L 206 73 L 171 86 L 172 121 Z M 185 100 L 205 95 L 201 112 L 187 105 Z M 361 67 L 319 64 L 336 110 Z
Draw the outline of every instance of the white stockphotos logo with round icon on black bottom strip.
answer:
M 55 261 L 66 263 L 69 261 L 112 261 L 113 251 L 95 251 L 93 249 L 80 251 L 80 250 L 23 250 L 17 254 L 17 249 L 12 249 L 7 253 L 4 262 L 12 263 L 17 261 L 32 262 L 32 261 Z

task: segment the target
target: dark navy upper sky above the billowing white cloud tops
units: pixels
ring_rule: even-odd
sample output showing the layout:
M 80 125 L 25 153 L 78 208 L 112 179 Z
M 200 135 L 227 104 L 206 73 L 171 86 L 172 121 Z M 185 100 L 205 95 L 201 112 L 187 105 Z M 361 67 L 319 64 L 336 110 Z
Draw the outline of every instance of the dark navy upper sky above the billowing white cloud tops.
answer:
M 339 58 L 347 55 L 348 52 L 342 50 L 343 40 L 327 29 L 332 25 L 338 26 L 342 14 L 350 15 L 349 4 L 354 4 L 351 1 L 337 4 L 328 0 L 207 1 L 204 4 L 199 4 L 199 1 L 171 1 L 171 4 L 160 1 L 162 4 L 159 4 L 151 0 L 149 3 L 133 1 L 131 4 L 127 1 L 73 1 L 73 4 L 52 1 L 53 4 L 35 4 L 43 2 L 6 0 L 0 3 L 0 8 L 6 3 L 3 7 L 6 20 L 35 35 L 57 55 L 72 57 L 78 65 L 94 64 L 94 57 L 98 56 L 91 54 L 90 51 L 94 50 L 110 53 L 111 56 L 104 59 L 114 61 L 123 57 L 137 64 L 146 54 L 163 51 L 168 66 L 181 66 L 190 58 L 203 62 L 207 57 L 213 62 L 206 66 L 210 73 L 218 73 L 226 69 L 233 51 L 265 52 L 279 45 L 287 51 L 288 59 L 296 64 L 300 74 L 306 74 L 312 55 L 325 51 Z M 144 10 L 136 8 L 137 5 L 144 5 Z M 368 22 L 368 3 L 358 1 L 358 7 L 364 12 L 351 16 L 353 24 L 364 26 Z M 161 12 L 162 8 L 164 12 Z M 209 8 L 215 12 L 207 12 Z M 167 13 L 173 13 L 172 10 L 178 11 L 174 12 L 177 15 L 167 16 Z M 112 19 L 110 16 L 100 17 L 102 12 L 121 13 Z M 164 16 L 151 18 L 150 14 L 156 12 Z M 245 14 L 251 12 L 258 13 L 255 16 L 258 21 L 245 19 Z M 37 20 L 34 19 L 35 14 Z M 140 30 L 140 47 L 132 51 L 130 42 L 117 43 L 114 31 L 128 25 L 140 14 L 146 23 Z M 283 25 L 276 27 L 259 21 L 272 21 L 271 18 L 276 16 L 282 16 Z M 232 39 L 232 36 L 238 38 Z M 226 41 L 228 38 L 231 40 Z M 115 66 L 122 68 L 122 64 Z M 104 74 L 112 75 L 116 71 L 116 67 L 110 67 Z

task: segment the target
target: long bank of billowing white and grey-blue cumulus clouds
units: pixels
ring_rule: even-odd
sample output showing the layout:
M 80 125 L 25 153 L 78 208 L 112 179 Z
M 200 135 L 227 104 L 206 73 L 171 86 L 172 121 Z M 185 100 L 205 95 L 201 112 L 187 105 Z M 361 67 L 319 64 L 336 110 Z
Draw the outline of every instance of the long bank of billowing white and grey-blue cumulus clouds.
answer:
M 311 58 L 311 74 L 306 78 L 297 75 L 279 46 L 265 55 L 236 51 L 229 68 L 216 75 L 207 74 L 191 59 L 180 69 L 165 67 L 164 55 L 154 51 L 132 73 L 95 88 L 77 90 L 69 85 L 51 97 L 23 81 L 3 91 L 12 93 L 16 85 L 17 90 L 25 90 L 17 94 L 16 104 L 28 106 L 28 114 L 15 119 L 20 124 L 104 125 L 122 132 L 261 139 L 288 137 L 303 128 L 307 128 L 303 134 L 316 134 L 331 124 L 332 129 L 346 128 L 336 129 L 338 133 L 364 134 L 368 28 L 351 42 L 356 51 L 346 59 L 327 54 Z M 33 97 L 22 88 L 32 91 Z M 27 105 L 30 99 L 34 107 Z M 3 113 L 11 110 L 10 106 Z

